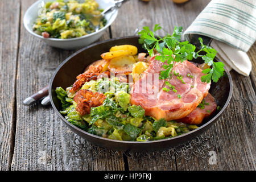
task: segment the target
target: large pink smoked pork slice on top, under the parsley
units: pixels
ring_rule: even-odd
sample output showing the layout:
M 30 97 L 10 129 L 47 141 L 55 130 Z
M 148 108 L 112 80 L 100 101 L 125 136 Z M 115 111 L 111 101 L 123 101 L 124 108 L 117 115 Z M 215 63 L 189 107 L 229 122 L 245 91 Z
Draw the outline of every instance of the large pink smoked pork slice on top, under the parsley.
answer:
M 171 79 L 159 80 L 162 70 L 163 63 L 152 57 L 142 78 L 135 82 L 131 89 L 131 104 L 141 105 L 145 115 L 156 119 L 164 118 L 170 121 L 184 118 L 207 96 L 210 83 L 201 82 L 201 76 L 204 75 L 202 70 L 189 61 L 175 63 Z M 174 71 L 183 76 L 185 84 L 177 79 Z M 188 74 L 191 77 L 187 76 Z M 172 89 L 170 92 L 163 91 L 164 87 L 170 88 L 165 84 L 166 81 L 175 86 L 177 92 Z

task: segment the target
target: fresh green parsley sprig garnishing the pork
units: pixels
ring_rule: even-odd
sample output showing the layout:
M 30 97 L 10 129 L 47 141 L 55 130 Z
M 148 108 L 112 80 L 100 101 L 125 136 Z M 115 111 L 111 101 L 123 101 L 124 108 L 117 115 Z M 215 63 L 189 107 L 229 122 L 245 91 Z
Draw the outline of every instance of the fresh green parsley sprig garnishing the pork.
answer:
M 209 46 L 205 46 L 203 39 L 199 38 L 201 49 L 195 52 L 196 47 L 193 44 L 190 44 L 188 41 L 181 42 L 182 27 L 175 27 L 172 35 L 167 34 L 164 37 L 160 37 L 155 33 L 161 29 L 163 28 L 156 24 L 153 31 L 149 27 L 143 27 L 143 30 L 139 32 L 139 35 L 141 35 L 139 43 L 142 44 L 142 47 L 147 49 L 150 56 L 155 56 L 156 60 L 166 63 L 163 65 L 164 70 L 160 72 L 160 79 L 172 77 L 171 73 L 175 62 L 182 63 L 185 60 L 191 61 L 198 57 L 201 57 L 205 63 L 212 67 L 203 70 L 203 73 L 206 75 L 201 77 L 202 82 L 209 83 L 211 80 L 217 82 L 223 76 L 224 63 L 213 61 L 217 51 Z M 155 55 L 154 49 L 156 49 L 159 55 Z M 204 52 L 203 55 L 200 54 L 202 52 Z M 182 81 L 182 78 L 180 80 Z M 168 91 L 169 89 L 164 90 Z

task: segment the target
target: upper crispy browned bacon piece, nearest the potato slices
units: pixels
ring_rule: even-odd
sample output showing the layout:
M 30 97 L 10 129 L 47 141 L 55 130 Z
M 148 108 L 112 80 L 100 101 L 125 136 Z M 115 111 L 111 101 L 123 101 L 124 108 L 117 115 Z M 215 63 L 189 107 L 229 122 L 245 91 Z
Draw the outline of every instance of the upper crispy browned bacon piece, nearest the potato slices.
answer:
M 85 82 L 88 82 L 90 80 L 97 80 L 98 75 L 100 75 L 102 71 L 102 66 L 99 65 L 98 67 L 94 67 L 93 65 L 90 65 L 89 69 L 85 71 L 84 73 L 77 76 L 76 82 L 73 84 L 72 89 L 69 90 L 71 93 L 75 93 L 77 90 L 81 88 L 82 85 L 85 84 Z

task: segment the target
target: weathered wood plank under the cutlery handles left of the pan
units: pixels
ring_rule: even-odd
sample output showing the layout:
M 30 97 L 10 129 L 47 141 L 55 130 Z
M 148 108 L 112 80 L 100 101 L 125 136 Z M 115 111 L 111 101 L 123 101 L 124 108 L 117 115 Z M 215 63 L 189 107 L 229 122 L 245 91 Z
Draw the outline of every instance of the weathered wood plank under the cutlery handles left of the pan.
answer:
M 35 0 L 22 2 L 22 17 Z M 101 40 L 109 39 L 109 32 Z M 17 120 L 12 170 L 122 170 L 123 157 L 94 159 L 90 144 L 75 135 L 53 109 L 22 100 L 49 83 L 57 66 L 75 51 L 51 48 L 21 24 L 16 90 Z

